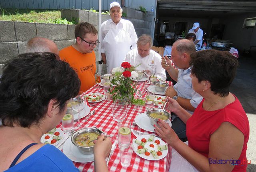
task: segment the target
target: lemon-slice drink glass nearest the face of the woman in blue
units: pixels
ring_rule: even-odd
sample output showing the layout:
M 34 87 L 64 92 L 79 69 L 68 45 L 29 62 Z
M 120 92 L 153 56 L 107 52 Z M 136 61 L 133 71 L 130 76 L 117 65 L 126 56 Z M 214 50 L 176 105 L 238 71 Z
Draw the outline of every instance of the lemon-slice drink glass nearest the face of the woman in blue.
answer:
M 66 114 L 62 118 L 62 130 L 64 133 L 69 133 L 74 129 L 74 113 L 72 108 L 68 108 Z

